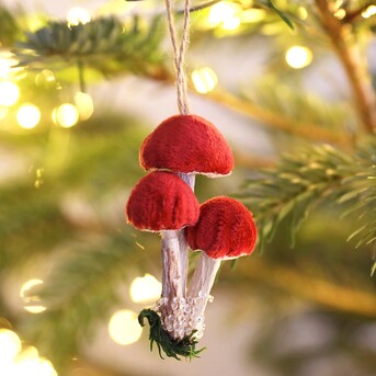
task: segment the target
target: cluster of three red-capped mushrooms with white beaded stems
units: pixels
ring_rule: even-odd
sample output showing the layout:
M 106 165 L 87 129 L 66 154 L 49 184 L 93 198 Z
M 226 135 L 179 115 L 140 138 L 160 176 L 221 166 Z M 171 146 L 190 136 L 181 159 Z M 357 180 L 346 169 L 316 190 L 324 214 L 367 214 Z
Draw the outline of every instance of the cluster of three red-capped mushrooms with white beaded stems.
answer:
M 224 176 L 233 168 L 230 147 L 207 119 L 167 118 L 144 140 L 139 161 L 149 173 L 132 191 L 126 217 L 140 230 L 160 232 L 162 294 L 155 310 L 171 343 L 192 342 L 203 333 L 220 260 L 250 254 L 255 225 L 236 200 L 219 196 L 200 206 L 194 195 L 196 174 Z M 202 252 L 189 289 L 187 246 Z

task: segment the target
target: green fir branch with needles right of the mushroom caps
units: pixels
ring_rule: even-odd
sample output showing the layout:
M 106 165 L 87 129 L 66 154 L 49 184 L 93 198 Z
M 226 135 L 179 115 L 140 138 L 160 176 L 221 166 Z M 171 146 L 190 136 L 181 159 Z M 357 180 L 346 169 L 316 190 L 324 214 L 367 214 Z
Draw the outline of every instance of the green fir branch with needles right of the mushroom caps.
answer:
M 283 221 L 289 226 L 292 246 L 295 233 L 318 204 L 337 204 L 343 216 L 362 219 L 349 237 L 360 237 L 356 247 L 371 244 L 375 237 L 375 158 L 376 140 L 355 156 L 329 145 L 306 147 L 284 155 L 263 178 L 248 180 L 242 197 L 255 215 L 259 248 L 271 241 Z M 354 221 L 354 226 L 358 221 Z

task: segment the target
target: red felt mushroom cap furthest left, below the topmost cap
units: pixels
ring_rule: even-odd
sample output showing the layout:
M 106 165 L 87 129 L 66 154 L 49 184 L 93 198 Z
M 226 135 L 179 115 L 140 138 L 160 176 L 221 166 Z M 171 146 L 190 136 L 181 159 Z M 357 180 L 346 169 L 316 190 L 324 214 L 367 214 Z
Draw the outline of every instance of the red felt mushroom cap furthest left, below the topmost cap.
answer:
M 197 221 L 200 204 L 178 175 L 155 171 L 134 187 L 126 204 L 127 220 L 141 230 L 178 230 Z

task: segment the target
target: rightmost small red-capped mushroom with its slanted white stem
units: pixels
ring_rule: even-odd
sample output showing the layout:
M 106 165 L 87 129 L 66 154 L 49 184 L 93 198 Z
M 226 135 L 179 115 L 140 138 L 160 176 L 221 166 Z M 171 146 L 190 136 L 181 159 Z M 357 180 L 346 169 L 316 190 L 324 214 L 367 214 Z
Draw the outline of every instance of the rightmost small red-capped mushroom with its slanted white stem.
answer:
M 252 214 L 240 202 L 225 196 L 201 205 L 197 223 L 186 228 L 186 240 L 192 250 L 201 250 L 187 292 L 191 305 L 186 334 L 196 339 L 203 334 L 205 307 L 223 260 L 251 254 L 257 241 Z

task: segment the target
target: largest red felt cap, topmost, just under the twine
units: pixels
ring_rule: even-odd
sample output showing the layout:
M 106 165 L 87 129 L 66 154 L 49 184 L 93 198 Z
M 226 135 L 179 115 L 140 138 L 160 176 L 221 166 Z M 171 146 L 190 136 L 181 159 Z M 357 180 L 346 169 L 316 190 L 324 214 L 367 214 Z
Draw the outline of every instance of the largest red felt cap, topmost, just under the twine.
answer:
M 233 156 L 224 136 L 197 115 L 175 115 L 163 121 L 143 143 L 139 161 L 145 170 L 169 170 L 227 175 Z

